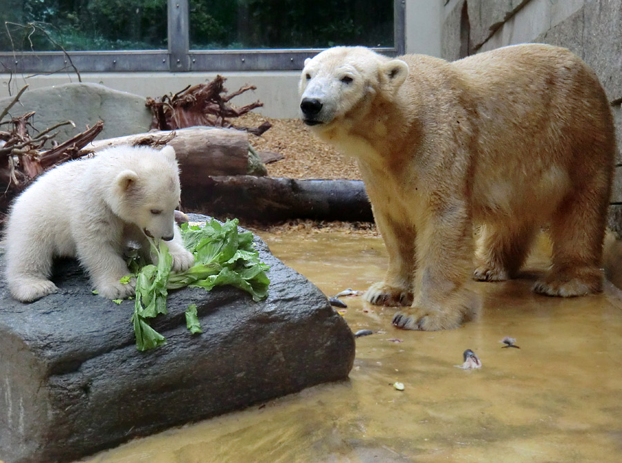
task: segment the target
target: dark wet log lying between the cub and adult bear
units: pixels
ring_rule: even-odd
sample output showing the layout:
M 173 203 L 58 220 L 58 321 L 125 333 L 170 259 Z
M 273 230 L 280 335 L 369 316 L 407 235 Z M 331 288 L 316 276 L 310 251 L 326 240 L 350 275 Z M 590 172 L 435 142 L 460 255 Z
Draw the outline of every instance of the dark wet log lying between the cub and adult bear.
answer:
M 290 218 L 373 221 L 360 180 L 209 176 L 200 188 L 182 190 L 182 208 L 264 223 Z

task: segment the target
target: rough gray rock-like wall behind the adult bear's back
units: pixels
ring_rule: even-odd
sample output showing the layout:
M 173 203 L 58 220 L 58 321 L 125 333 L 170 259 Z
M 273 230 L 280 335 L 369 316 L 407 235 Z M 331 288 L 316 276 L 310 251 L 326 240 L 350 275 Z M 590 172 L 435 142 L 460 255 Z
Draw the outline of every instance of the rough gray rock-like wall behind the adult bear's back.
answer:
M 442 57 L 540 42 L 569 48 L 599 75 L 616 120 L 618 156 L 610 225 L 622 231 L 622 1 L 441 0 Z M 465 7 L 466 3 L 466 7 Z M 468 21 L 466 21 L 466 17 Z

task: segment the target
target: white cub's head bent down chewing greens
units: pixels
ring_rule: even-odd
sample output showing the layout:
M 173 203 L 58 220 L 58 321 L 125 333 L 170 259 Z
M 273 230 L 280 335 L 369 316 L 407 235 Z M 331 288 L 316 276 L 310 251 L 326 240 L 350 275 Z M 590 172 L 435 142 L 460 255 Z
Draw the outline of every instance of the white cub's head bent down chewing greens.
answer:
M 118 157 L 122 169 L 114 180 L 113 211 L 151 238 L 172 240 L 180 201 L 175 150 L 136 147 L 123 151 Z

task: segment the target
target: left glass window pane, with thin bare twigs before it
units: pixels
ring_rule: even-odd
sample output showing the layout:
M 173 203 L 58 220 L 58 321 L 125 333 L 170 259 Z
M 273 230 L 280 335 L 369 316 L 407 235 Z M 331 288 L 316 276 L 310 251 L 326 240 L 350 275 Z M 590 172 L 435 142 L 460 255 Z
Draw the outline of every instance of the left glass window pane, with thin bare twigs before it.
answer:
M 0 51 L 161 50 L 167 0 L 0 0 Z

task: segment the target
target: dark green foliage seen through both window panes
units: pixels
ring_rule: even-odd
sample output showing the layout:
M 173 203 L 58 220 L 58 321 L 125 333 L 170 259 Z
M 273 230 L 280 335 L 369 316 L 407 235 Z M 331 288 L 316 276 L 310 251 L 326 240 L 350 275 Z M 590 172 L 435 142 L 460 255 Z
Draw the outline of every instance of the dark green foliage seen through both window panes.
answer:
M 393 0 L 189 0 L 189 6 L 195 50 L 393 46 Z M 0 18 L 8 21 L 0 30 L 2 51 L 167 48 L 166 0 L 0 0 Z

